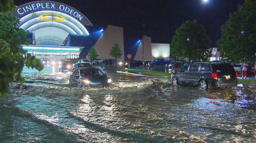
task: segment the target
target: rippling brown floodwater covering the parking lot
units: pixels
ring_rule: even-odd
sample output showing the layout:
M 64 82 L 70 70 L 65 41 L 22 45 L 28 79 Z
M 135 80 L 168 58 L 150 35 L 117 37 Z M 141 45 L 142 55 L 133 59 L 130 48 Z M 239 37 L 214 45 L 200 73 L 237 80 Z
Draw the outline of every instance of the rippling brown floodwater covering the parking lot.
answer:
M 200 90 L 116 73 L 110 87 L 70 87 L 69 72 L 23 70 L 0 98 L 0 142 L 253 143 L 254 87 Z

